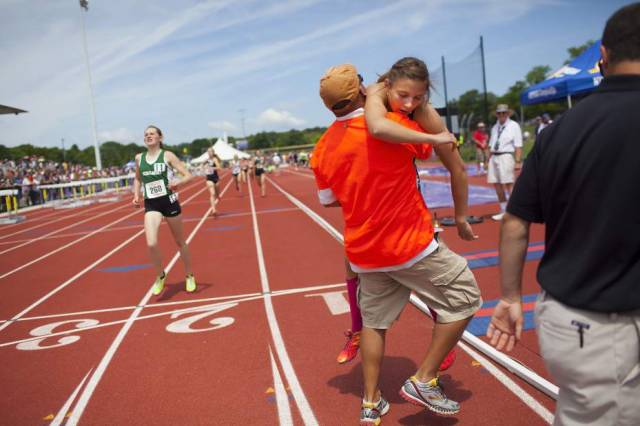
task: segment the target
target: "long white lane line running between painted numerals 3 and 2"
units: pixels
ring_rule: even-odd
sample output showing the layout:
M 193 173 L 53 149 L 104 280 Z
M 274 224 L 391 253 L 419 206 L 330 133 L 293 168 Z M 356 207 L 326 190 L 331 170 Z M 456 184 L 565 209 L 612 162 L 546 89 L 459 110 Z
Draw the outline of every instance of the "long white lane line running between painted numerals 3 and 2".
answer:
M 222 197 L 222 195 L 224 195 L 224 193 L 227 190 L 227 188 L 229 188 L 230 184 L 231 184 L 231 180 L 229 180 L 229 182 L 227 183 L 227 186 L 222 190 L 222 192 L 220 194 L 221 197 Z M 207 190 L 207 188 L 205 187 L 204 190 Z M 201 191 L 198 191 L 198 193 L 200 193 L 200 192 Z M 209 207 L 207 209 L 207 211 L 204 213 L 204 216 L 202 216 L 202 219 L 200 219 L 200 222 L 198 222 L 196 227 L 193 229 L 193 231 L 191 232 L 191 234 L 187 238 L 187 241 L 186 241 L 187 244 L 189 244 L 191 242 L 191 240 L 195 236 L 196 232 L 198 232 L 198 230 L 200 229 L 200 227 L 204 223 L 205 219 L 207 219 L 209 217 L 210 212 L 211 212 L 211 207 Z M 171 271 L 171 268 L 173 268 L 173 265 L 178 260 L 178 257 L 180 257 L 180 250 L 176 251 L 176 254 L 173 256 L 173 259 L 171 259 L 171 262 L 169 262 L 169 264 L 165 268 L 165 271 L 166 271 L 167 274 L 169 273 L 169 271 Z M 129 329 L 131 328 L 131 326 L 135 322 L 136 318 L 140 315 L 140 312 L 142 312 L 142 306 L 146 305 L 147 302 L 149 301 L 149 299 L 151 298 L 151 290 L 152 290 L 152 288 L 153 287 L 149 287 L 149 290 L 147 290 L 147 293 L 144 295 L 142 300 L 140 300 L 140 302 L 138 303 L 138 307 L 133 311 L 131 316 L 126 320 L 124 326 L 120 329 L 120 332 L 118 333 L 116 338 L 111 343 L 111 346 L 109 347 L 109 349 L 107 349 L 107 352 L 105 353 L 104 357 L 100 361 L 100 364 L 98 364 L 98 367 L 96 368 L 96 371 L 93 373 L 93 375 L 89 379 L 89 383 L 87 384 L 87 387 L 84 388 L 82 394 L 80 395 L 80 398 L 78 399 L 78 403 L 76 404 L 75 408 L 73 409 L 73 413 L 71 414 L 71 417 L 67 421 L 67 426 L 76 425 L 76 424 L 78 424 L 78 421 L 80 421 L 80 417 L 82 417 L 82 414 L 84 413 L 84 410 L 87 408 L 87 404 L 89 403 L 89 400 L 91 399 L 91 396 L 93 395 L 93 392 L 96 390 L 96 387 L 98 386 L 98 383 L 100 383 L 100 379 L 102 379 L 102 376 L 104 375 L 104 372 L 107 370 L 107 367 L 109 366 L 109 363 L 111 362 L 111 359 L 113 359 L 113 356 L 115 355 L 116 351 L 118 350 L 118 347 L 120 346 L 120 344 L 124 340 L 125 336 L 129 332 Z

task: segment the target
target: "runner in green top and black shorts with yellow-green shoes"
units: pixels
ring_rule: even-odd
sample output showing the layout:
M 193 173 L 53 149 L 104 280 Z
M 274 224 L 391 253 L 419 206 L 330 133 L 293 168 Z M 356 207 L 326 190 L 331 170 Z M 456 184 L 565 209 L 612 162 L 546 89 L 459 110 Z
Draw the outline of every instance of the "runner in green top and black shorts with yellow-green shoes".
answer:
M 156 280 L 153 283 L 153 294 L 159 295 L 164 288 L 167 274 L 162 268 L 162 254 L 158 246 L 158 230 L 162 217 L 165 218 L 176 244 L 180 248 L 180 257 L 184 262 L 187 274 L 185 284 L 188 292 L 195 291 L 196 280 L 191 270 L 191 255 L 182 232 L 181 209 L 178 202 L 178 187 L 188 182 L 193 176 L 182 161 L 171 151 L 162 147 L 162 131 L 149 126 L 144 131 L 144 144 L 147 152 L 136 155 L 136 177 L 133 181 L 133 205 L 140 207 L 140 190 L 144 193 L 144 231 L 151 261 L 156 269 Z M 177 171 L 182 179 L 169 181 L 169 168 Z

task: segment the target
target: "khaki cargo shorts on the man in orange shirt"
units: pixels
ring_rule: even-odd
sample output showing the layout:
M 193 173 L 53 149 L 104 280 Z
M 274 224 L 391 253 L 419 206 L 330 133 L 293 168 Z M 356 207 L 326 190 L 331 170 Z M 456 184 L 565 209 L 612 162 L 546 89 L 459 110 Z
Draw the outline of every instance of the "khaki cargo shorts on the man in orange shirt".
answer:
M 482 306 L 480 289 L 466 259 L 444 244 L 410 268 L 358 275 L 358 304 L 365 327 L 390 328 L 412 291 L 436 311 L 438 323 L 469 318 Z

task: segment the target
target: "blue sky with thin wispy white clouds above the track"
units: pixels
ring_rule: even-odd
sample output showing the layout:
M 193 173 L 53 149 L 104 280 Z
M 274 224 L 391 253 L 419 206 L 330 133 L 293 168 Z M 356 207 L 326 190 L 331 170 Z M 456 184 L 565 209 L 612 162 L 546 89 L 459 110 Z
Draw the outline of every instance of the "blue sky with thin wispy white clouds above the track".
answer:
M 77 0 L 0 0 L 0 144 L 93 143 Z M 484 36 L 488 90 L 597 39 L 616 0 L 89 0 L 84 14 L 98 139 L 142 143 L 155 124 L 170 144 L 226 131 L 326 126 L 318 97 L 331 65 L 373 81 L 403 56 L 431 71 L 445 56 L 453 96 L 481 89 L 477 67 L 454 65 Z M 449 63 L 451 65 L 449 65 Z M 456 70 L 456 67 L 458 68 Z M 455 72 L 457 71 L 457 72 Z M 437 73 L 436 73 L 437 75 Z M 436 82 L 437 83 L 437 82 Z M 434 97 L 436 102 L 437 95 Z

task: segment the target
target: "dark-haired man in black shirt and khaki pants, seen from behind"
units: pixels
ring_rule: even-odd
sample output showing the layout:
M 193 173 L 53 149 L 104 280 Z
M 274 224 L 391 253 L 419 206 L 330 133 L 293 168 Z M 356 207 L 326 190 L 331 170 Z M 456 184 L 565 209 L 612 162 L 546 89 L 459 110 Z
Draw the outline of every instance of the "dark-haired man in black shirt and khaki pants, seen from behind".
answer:
M 542 132 L 502 223 L 487 335 L 522 332 L 530 222 L 546 224 L 536 305 L 556 425 L 640 425 L 640 3 L 607 21 L 599 88 Z

